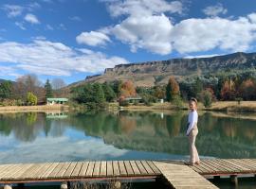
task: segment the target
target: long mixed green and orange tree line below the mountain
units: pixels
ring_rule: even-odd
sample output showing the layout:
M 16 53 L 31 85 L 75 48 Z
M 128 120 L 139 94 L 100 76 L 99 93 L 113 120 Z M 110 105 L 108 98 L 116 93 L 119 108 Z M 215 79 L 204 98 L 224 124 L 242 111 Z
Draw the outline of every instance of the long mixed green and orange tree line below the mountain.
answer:
M 140 96 L 146 105 L 165 99 L 177 106 L 196 97 L 205 107 L 210 107 L 218 100 L 256 100 L 256 77 L 250 73 L 221 73 L 183 80 L 171 76 L 167 84 L 148 88 L 136 87 L 131 80 L 116 80 L 83 84 L 73 88 L 71 93 L 76 102 L 90 108 L 104 107 L 105 103 L 114 101 L 125 106 L 125 98 L 131 96 Z

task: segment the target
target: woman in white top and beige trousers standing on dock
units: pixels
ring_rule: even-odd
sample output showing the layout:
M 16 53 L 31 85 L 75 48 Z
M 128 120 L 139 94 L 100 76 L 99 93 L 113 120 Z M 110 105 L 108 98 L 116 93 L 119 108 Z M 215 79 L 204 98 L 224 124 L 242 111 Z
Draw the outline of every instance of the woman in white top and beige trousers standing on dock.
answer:
M 188 128 L 187 128 L 186 135 L 189 137 L 191 160 L 190 160 L 190 163 L 187 163 L 187 164 L 194 165 L 194 164 L 200 163 L 198 152 L 195 147 L 195 139 L 196 139 L 196 135 L 198 134 L 198 129 L 197 129 L 198 114 L 196 112 L 197 100 L 192 97 L 190 100 L 189 106 L 191 111 L 188 117 Z

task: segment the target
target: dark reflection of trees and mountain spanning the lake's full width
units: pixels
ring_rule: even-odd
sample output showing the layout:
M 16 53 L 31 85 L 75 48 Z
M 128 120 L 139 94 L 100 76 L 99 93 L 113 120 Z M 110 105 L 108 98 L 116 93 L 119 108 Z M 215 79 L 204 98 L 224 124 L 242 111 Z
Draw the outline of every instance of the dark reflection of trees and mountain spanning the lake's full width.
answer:
M 67 129 L 100 137 L 119 148 L 188 154 L 184 136 L 187 112 L 111 112 L 69 114 L 65 119 L 47 119 L 46 113 L 0 114 L 0 134 L 11 133 L 19 141 L 32 142 L 42 134 L 59 137 Z M 199 116 L 199 153 L 222 158 L 255 158 L 255 120 Z

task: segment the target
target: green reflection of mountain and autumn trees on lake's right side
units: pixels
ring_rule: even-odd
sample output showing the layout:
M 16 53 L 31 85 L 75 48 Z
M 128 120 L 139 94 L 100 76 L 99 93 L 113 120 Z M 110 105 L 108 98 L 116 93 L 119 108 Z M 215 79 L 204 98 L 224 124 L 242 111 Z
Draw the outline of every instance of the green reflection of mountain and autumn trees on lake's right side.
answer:
M 186 112 L 163 118 L 153 112 L 120 112 L 118 116 L 101 112 L 81 114 L 72 125 L 87 135 L 102 137 L 119 148 L 188 154 L 184 136 Z M 256 157 L 255 121 L 229 117 L 200 116 L 197 146 L 201 155 L 222 158 Z

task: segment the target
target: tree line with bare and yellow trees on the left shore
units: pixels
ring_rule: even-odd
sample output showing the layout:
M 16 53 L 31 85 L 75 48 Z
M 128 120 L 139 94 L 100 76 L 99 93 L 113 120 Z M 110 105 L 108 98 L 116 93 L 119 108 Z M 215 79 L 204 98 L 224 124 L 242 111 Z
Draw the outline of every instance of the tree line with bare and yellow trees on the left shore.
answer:
M 36 75 L 25 75 L 14 81 L 0 83 L 0 106 L 31 106 L 46 104 L 48 97 L 66 97 L 62 78 L 46 79 L 43 83 Z

